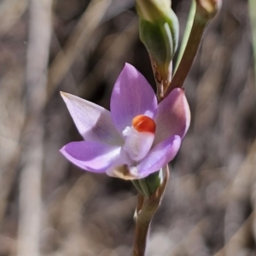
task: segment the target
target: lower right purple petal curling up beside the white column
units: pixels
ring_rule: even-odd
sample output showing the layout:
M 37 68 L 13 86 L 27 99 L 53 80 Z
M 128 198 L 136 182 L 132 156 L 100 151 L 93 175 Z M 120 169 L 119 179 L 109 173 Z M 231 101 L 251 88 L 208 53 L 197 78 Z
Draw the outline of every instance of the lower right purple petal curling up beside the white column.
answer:
M 181 138 L 173 136 L 152 148 L 148 155 L 137 166 L 139 178 L 146 177 L 150 173 L 160 170 L 176 156 L 181 145 Z

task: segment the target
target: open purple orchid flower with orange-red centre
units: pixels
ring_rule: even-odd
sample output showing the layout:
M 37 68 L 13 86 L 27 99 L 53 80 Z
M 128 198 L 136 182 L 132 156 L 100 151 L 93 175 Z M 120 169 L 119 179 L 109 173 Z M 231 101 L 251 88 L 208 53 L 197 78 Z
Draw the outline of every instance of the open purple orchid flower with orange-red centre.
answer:
M 61 92 L 84 141 L 61 153 L 74 165 L 112 177 L 139 179 L 157 172 L 180 148 L 190 122 L 184 90 L 176 88 L 159 104 L 135 67 L 125 64 L 113 86 L 110 109 Z

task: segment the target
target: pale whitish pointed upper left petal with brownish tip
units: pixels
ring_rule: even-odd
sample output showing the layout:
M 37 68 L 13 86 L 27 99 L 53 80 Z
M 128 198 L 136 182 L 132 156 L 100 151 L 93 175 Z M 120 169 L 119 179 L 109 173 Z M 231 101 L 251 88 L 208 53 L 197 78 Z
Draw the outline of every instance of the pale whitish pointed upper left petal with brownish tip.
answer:
M 121 143 L 107 109 L 69 93 L 61 92 L 61 96 L 84 140 L 113 145 Z

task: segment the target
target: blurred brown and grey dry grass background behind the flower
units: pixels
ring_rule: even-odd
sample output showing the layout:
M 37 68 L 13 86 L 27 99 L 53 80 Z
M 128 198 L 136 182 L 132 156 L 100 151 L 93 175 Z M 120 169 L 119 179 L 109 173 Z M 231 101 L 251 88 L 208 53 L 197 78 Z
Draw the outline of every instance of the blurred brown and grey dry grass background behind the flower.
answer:
M 181 36 L 189 5 L 172 1 Z M 184 85 L 192 123 L 148 256 L 256 255 L 251 38 L 247 1 L 225 0 Z M 109 108 L 125 62 L 154 86 L 134 1 L 0 1 L 0 256 L 131 255 L 136 189 L 59 153 L 82 139 L 59 91 Z

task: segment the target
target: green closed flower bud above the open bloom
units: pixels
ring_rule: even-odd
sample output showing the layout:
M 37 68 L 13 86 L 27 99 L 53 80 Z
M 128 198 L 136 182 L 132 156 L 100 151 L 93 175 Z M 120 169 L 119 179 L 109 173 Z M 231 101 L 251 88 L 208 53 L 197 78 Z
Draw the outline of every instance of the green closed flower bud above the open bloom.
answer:
M 148 49 L 154 77 L 166 89 L 172 79 L 172 58 L 178 44 L 177 16 L 170 0 L 137 0 L 137 12 L 140 38 Z

